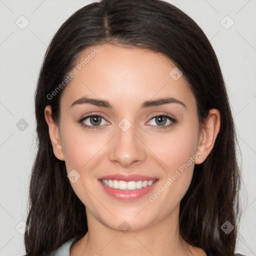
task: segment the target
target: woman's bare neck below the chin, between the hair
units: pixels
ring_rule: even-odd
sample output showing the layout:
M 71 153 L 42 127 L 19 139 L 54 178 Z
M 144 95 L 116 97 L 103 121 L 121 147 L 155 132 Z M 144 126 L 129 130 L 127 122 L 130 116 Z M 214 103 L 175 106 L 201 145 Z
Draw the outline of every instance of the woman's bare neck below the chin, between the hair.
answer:
M 71 246 L 70 256 L 76 255 L 206 255 L 202 249 L 185 243 L 178 229 L 178 209 L 167 218 L 144 229 L 121 231 L 98 221 L 87 209 L 88 232 Z M 122 221 L 120 221 L 121 223 Z

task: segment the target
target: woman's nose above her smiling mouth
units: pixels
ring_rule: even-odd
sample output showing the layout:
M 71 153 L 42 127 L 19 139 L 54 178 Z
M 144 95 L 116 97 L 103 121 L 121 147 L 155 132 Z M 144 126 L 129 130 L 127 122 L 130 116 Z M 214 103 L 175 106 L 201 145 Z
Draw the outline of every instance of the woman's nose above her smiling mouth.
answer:
M 109 160 L 123 167 L 136 166 L 146 157 L 142 135 L 134 129 L 134 125 L 126 131 L 120 127 L 117 126 L 117 134 L 111 141 Z

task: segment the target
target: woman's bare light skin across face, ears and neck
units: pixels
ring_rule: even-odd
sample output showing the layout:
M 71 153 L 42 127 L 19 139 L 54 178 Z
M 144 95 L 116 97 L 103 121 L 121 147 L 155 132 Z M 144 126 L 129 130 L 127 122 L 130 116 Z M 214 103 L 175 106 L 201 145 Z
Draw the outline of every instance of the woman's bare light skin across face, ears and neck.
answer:
M 99 52 L 61 95 L 60 122 L 52 120 L 50 105 L 44 111 L 54 154 L 65 161 L 67 172 L 75 169 L 79 173 L 80 178 L 70 184 L 86 207 L 88 232 L 72 244 L 70 255 L 206 255 L 181 238 L 178 214 L 194 164 L 203 162 L 214 145 L 219 111 L 210 109 L 200 127 L 191 90 L 182 76 L 174 80 L 169 75 L 175 65 L 163 55 L 103 44 L 86 48 L 77 62 L 95 48 Z M 83 95 L 106 99 L 113 109 L 88 103 L 70 107 Z M 182 101 L 186 107 L 168 103 L 139 108 L 144 100 L 166 96 Z M 99 129 L 88 130 L 78 123 L 91 112 L 103 116 Z M 152 118 L 159 113 L 170 114 L 177 122 L 166 129 L 155 129 L 162 127 Z M 118 126 L 123 118 L 131 123 L 127 131 Z M 90 118 L 83 122 L 93 126 Z M 167 119 L 164 125 L 169 123 Z M 148 197 L 197 151 L 201 158 L 192 161 L 155 201 L 149 201 Z M 107 195 L 97 180 L 114 173 L 156 176 L 159 181 L 149 194 L 120 201 Z M 130 225 L 126 233 L 118 228 L 124 220 Z

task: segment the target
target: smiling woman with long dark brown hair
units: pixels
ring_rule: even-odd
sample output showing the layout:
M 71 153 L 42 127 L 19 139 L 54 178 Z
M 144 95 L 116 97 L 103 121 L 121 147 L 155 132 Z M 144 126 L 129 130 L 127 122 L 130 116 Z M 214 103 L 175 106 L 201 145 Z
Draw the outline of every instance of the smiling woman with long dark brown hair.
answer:
M 48 46 L 35 114 L 27 255 L 234 255 L 233 119 L 214 50 L 181 10 L 77 10 Z

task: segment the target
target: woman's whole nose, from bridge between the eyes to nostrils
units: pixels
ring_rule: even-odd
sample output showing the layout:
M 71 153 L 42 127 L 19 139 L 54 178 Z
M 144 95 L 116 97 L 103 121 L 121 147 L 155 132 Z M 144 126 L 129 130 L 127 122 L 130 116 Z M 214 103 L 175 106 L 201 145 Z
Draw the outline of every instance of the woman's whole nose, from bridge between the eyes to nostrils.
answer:
M 143 143 L 137 138 L 139 131 L 136 125 L 127 118 L 121 119 L 116 127 L 115 140 L 110 148 L 109 159 L 123 166 L 140 162 L 145 158 Z

